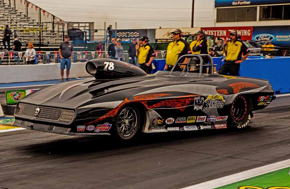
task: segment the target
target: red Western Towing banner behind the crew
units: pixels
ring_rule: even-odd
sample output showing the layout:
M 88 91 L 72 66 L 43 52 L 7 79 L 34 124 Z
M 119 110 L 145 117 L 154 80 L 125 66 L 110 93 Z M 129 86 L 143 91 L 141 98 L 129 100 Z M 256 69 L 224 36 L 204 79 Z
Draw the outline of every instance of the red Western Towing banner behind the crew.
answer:
M 206 35 L 214 35 L 215 42 L 217 37 L 226 39 L 229 37 L 231 30 L 237 30 L 238 34 L 241 35 L 242 40 L 252 40 L 253 27 L 252 26 L 235 26 L 235 27 L 207 27 L 201 28 L 204 30 Z

